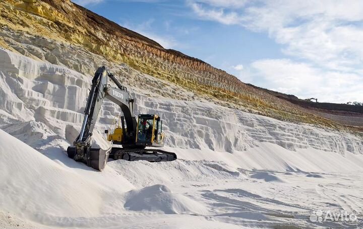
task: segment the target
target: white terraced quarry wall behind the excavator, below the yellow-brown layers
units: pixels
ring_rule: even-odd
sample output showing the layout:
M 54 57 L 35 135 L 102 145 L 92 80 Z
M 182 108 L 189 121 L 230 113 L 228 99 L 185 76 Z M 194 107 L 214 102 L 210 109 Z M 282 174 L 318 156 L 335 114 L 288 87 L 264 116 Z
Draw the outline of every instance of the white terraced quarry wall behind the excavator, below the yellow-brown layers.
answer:
M 0 60 L 0 129 L 49 157 L 65 151 L 81 129 L 91 78 L 3 48 Z M 183 92 L 166 83 L 164 87 Z M 132 96 L 137 101 L 136 115 L 162 117 L 165 145 L 173 149 L 234 154 L 267 142 L 293 151 L 315 148 L 341 155 L 363 151 L 361 138 L 343 131 L 278 121 L 208 102 L 155 98 L 145 91 Z M 92 141 L 102 143 L 104 129 L 110 128 L 119 112 L 116 104 L 104 102 Z

